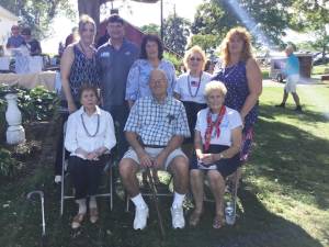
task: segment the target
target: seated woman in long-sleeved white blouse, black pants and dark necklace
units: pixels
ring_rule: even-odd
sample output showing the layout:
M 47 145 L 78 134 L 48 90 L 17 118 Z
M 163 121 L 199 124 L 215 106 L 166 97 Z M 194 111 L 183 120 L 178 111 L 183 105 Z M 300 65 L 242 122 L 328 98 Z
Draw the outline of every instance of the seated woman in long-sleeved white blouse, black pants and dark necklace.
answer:
M 101 110 L 97 88 L 86 85 L 80 90 L 81 108 L 69 115 L 65 147 L 70 153 L 69 171 L 76 190 L 79 212 L 73 217 L 72 228 L 80 227 L 87 213 L 89 195 L 90 222 L 98 221 L 95 194 L 106 161 L 105 154 L 115 146 L 116 139 L 112 116 Z

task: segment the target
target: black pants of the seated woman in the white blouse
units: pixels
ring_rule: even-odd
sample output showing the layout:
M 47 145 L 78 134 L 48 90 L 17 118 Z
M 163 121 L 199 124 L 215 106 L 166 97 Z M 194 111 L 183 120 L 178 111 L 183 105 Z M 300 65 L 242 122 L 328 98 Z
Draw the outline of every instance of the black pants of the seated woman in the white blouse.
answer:
M 105 161 L 104 156 L 100 160 L 84 160 L 77 156 L 69 157 L 69 172 L 76 189 L 76 200 L 97 194 Z

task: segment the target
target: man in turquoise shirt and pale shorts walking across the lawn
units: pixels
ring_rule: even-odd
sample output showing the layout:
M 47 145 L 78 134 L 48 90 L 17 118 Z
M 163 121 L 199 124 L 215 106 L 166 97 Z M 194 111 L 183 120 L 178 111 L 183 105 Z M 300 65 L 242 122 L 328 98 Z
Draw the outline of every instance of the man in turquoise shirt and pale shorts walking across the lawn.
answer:
M 285 48 L 285 54 L 287 56 L 284 74 L 286 76 L 286 83 L 283 91 L 283 100 L 281 104 L 275 105 L 276 108 L 285 108 L 285 102 L 288 98 L 288 93 L 293 94 L 294 101 L 296 103 L 295 111 L 302 112 L 302 106 L 299 102 L 299 97 L 296 92 L 296 86 L 299 81 L 299 60 L 298 57 L 294 55 L 294 47 L 288 45 Z

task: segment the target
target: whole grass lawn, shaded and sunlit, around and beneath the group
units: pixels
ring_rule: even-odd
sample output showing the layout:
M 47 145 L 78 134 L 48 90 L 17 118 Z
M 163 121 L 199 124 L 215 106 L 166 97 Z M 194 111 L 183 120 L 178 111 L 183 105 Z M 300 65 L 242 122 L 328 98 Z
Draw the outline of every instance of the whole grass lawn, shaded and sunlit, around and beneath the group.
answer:
M 281 101 L 282 88 L 264 88 L 256 145 L 250 162 L 243 168 L 239 217 L 234 227 L 212 229 L 214 205 L 206 203 L 206 213 L 197 228 L 173 231 L 171 200 L 161 198 L 167 231 L 167 239 L 161 240 L 151 203 L 148 227 L 135 232 L 133 210 L 124 212 L 125 202 L 120 193 L 112 212 L 105 201 L 100 203 L 98 224 L 86 221 L 81 229 L 72 231 L 70 222 L 76 206 L 67 202 L 65 215 L 59 217 L 59 190 L 52 182 L 53 164 L 48 160 L 16 181 L 0 181 L 0 246 L 39 245 L 39 203 L 25 200 L 26 193 L 35 189 L 45 192 L 47 246 L 329 246 L 329 119 L 326 119 L 326 114 L 329 117 L 329 86 L 300 86 L 298 93 L 303 114 L 292 111 L 292 99 L 286 109 L 273 108 Z

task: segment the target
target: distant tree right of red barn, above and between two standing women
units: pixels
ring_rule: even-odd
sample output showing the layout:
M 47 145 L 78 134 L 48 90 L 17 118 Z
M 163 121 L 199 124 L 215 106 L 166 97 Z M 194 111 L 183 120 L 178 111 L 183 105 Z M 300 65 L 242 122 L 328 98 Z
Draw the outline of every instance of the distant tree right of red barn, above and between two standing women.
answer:
M 169 15 L 163 21 L 163 43 L 164 45 L 179 55 L 183 55 L 190 36 L 190 22 L 177 16 Z

